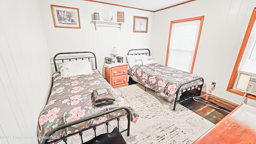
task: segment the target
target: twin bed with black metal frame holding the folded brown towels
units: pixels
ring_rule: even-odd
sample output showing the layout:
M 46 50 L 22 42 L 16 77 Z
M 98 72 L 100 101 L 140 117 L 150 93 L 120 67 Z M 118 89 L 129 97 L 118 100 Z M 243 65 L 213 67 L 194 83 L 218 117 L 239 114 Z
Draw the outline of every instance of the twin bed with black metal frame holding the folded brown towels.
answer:
M 108 84 L 98 70 L 93 69 L 93 74 L 82 76 L 68 78 L 60 76 L 56 61 L 64 63 L 65 60 L 87 59 L 90 63 L 93 63 L 94 59 L 95 68 L 97 68 L 96 56 L 93 52 L 63 52 L 54 56 L 53 62 L 56 72 L 52 75 L 51 90 L 46 106 L 40 113 L 38 120 L 37 133 L 42 138 L 38 140 L 39 143 L 50 144 L 62 140 L 67 144 L 68 137 L 79 134 L 82 144 L 86 144 L 83 141 L 82 134 L 89 129 L 94 130 L 95 138 L 87 143 L 99 142 L 103 137 L 114 137 L 108 132 L 110 121 L 117 120 L 119 131 L 119 120 L 125 117 L 128 119 L 127 129 L 117 133 L 120 135 L 120 133 L 127 131 L 127 136 L 130 135 L 130 121 L 138 114 Z M 109 88 L 116 98 L 114 104 L 95 107 L 92 90 L 96 88 Z M 102 124 L 106 124 L 107 133 L 98 138 L 98 136 L 96 137 L 96 127 Z

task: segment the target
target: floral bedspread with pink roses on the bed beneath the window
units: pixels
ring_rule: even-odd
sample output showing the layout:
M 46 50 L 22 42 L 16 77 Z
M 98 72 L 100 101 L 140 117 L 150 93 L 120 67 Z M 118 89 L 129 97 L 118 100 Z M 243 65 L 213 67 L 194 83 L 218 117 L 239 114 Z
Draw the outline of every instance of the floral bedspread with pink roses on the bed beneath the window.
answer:
M 149 65 L 136 65 L 130 68 L 131 77 L 152 90 L 156 91 L 156 94 L 165 100 L 168 100 L 171 104 L 174 103 L 176 98 L 176 91 L 178 87 L 190 80 L 200 78 L 196 74 L 184 72 L 182 70 L 170 68 L 160 64 Z M 186 88 L 196 87 L 202 85 L 201 80 L 196 80 L 182 86 L 179 96 Z

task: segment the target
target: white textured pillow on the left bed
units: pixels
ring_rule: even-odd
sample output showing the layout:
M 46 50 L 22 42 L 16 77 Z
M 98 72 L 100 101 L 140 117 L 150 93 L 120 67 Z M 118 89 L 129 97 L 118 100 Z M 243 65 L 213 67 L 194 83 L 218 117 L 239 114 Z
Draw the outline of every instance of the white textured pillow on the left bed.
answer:
M 62 68 L 60 68 L 60 75 L 64 78 L 91 73 L 94 72 L 92 72 L 92 67 L 88 60 L 74 60 L 65 62 L 62 65 Z

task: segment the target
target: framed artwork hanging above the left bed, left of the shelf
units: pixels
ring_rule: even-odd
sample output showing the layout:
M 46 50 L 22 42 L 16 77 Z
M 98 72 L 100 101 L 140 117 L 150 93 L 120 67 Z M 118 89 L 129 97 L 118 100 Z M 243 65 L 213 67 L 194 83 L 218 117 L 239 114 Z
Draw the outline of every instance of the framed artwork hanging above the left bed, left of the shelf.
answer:
M 57 28 L 81 28 L 78 8 L 52 6 L 54 26 Z

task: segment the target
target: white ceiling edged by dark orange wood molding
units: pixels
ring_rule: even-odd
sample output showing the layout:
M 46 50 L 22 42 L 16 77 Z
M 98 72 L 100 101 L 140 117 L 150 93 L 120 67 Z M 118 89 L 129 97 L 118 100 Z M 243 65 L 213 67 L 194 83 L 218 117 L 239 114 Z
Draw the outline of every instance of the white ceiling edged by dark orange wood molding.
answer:
M 147 11 L 158 11 L 164 8 L 169 8 L 178 4 L 191 2 L 194 0 L 86 0 L 92 2 L 100 2 L 107 4 L 120 5 Z

